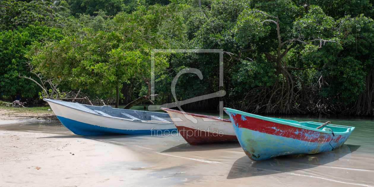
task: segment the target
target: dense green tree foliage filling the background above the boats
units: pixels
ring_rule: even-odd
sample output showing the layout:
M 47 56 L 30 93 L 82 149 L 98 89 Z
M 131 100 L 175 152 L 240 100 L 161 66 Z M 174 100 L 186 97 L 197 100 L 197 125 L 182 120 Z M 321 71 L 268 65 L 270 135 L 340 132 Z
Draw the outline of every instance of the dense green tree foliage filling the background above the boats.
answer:
M 19 73 L 33 76 L 24 64 L 31 61 L 36 71 L 67 83 L 57 92 L 85 88 L 82 92 L 107 97 L 120 85 L 136 89 L 124 95 L 134 99 L 148 91 L 140 77 L 150 77 L 150 51 L 160 48 L 223 49 L 223 89 L 226 102 L 234 105 L 254 88 L 283 83 L 294 85 L 288 89 L 295 95 L 318 90 L 329 101 L 344 104 L 368 88 L 365 77 L 374 69 L 370 0 L 201 4 L 200 9 L 198 0 L 1 1 L 0 91 L 36 95 L 34 83 L 18 78 Z M 155 62 L 160 95 L 170 96 L 171 81 L 187 67 L 199 69 L 204 79 L 182 75 L 176 88 L 179 100 L 222 89 L 217 54 L 156 53 Z M 318 80 L 323 80 L 319 88 Z

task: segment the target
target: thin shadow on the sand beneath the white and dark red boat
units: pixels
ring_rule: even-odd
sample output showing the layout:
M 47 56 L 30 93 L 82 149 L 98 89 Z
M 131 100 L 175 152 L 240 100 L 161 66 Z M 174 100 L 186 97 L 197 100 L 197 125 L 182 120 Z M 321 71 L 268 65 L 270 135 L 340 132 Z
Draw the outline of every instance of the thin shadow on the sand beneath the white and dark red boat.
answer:
M 210 151 L 220 149 L 239 148 L 239 142 L 219 143 L 219 144 L 205 144 L 205 145 L 190 145 L 188 143 L 180 144 L 169 148 L 161 153 L 173 153 L 173 152 L 187 152 L 187 151 Z

